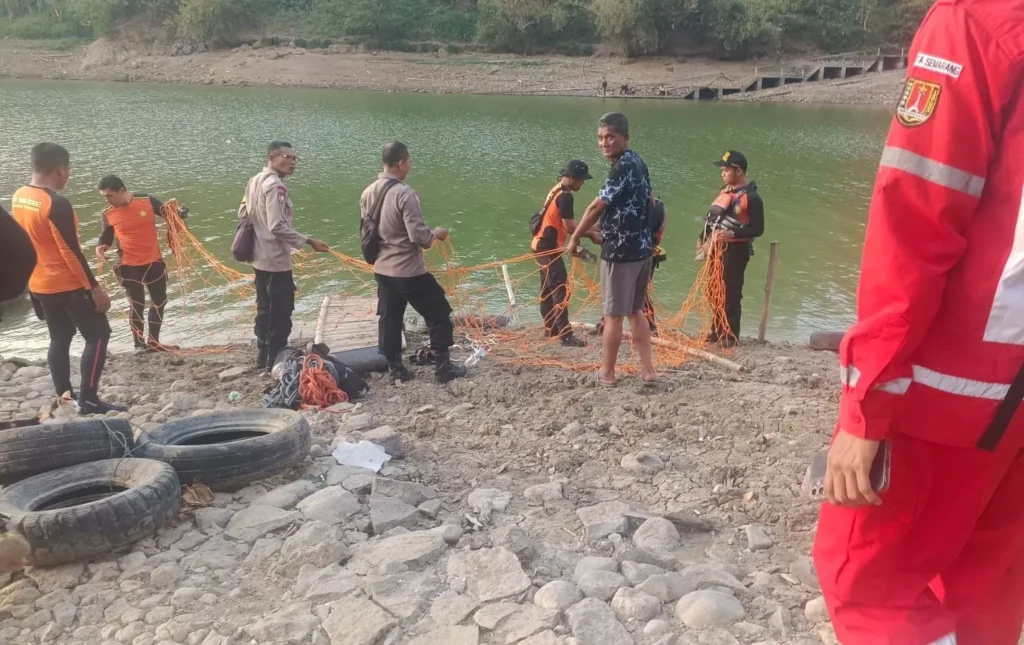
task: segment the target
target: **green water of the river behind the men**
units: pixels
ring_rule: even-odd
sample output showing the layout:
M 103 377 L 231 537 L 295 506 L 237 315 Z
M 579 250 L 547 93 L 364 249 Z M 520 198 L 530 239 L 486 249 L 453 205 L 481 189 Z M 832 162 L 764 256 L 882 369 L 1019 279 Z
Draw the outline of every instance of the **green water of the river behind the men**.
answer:
M 803 340 L 814 330 L 851 321 L 870 185 L 889 121 L 884 110 L 0 83 L 0 200 L 9 206 L 27 180 L 31 146 L 55 140 L 72 153 L 67 195 L 78 209 L 87 257 L 93 257 L 100 229 L 95 185 L 117 173 L 131 189 L 188 205 L 193 231 L 227 259 L 245 183 L 261 167 L 266 143 L 284 138 L 301 159 L 289 181 L 297 227 L 358 255 L 358 196 L 379 170 L 381 144 L 398 138 L 413 152 L 409 181 L 428 224 L 450 227 L 459 261 L 473 265 L 527 251 L 529 215 L 571 157 L 590 163 L 598 177 L 578 197 L 582 213 L 606 171 L 595 124 L 609 111 L 630 118 L 633 147 L 647 161 L 668 207 L 669 262 L 655 282 L 667 307 L 678 307 L 693 282 L 694 239 L 719 188 L 711 162 L 734 148 L 751 162 L 767 221 L 748 270 L 744 333 L 754 333 L 760 319 L 771 240 L 781 246 L 769 338 Z M 325 293 L 350 287 L 350 274 L 337 266 L 325 257 L 298 273 L 300 316 L 308 316 Z M 532 270 L 515 265 L 513 277 Z M 121 292 L 109 277 L 104 284 L 123 312 Z M 469 286 L 495 281 L 492 272 L 472 276 Z M 530 299 L 534 281 L 522 286 Z M 184 300 L 178 287 L 171 287 L 165 340 L 188 345 L 215 332 L 248 337 L 250 304 L 223 284 L 197 278 Z M 503 290 L 486 293 L 492 312 L 500 313 L 507 304 Z M 127 325 L 120 315 L 112 324 L 123 346 Z M 0 352 L 32 353 L 45 344 L 45 328 L 24 303 L 5 306 Z

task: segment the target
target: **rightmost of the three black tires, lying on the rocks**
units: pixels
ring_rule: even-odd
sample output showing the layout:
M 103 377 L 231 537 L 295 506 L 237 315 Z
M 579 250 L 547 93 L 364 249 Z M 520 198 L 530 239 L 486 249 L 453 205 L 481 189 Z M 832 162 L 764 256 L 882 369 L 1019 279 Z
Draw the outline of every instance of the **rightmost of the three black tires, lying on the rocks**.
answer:
M 134 455 L 170 464 L 182 485 L 233 490 L 298 464 L 311 440 L 299 413 L 250 408 L 165 424 L 139 437 Z

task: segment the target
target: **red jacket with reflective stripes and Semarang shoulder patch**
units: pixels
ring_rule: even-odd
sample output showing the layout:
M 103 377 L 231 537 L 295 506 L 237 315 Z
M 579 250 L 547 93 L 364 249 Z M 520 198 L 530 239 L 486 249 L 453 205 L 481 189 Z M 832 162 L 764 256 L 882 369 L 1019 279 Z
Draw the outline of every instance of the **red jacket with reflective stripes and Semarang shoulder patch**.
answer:
M 1024 364 L 1022 77 L 1024 0 L 932 7 L 871 199 L 840 429 L 974 445 Z

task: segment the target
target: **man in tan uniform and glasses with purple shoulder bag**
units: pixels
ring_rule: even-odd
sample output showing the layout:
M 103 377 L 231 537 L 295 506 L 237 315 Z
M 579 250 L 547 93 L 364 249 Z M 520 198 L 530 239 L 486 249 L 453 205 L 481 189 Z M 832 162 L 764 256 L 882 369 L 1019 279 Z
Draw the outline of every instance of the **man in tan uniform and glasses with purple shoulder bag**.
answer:
M 295 310 L 292 252 L 304 245 L 317 253 L 330 249 L 300 233 L 292 224 L 292 200 L 285 177 L 295 173 L 299 158 L 287 141 L 267 147 L 266 167 L 246 186 L 239 218 L 249 217 L 255 233 L 253 269 L 256 272 L 256 368 L 269 371 L 278 353 L 288 346 Z

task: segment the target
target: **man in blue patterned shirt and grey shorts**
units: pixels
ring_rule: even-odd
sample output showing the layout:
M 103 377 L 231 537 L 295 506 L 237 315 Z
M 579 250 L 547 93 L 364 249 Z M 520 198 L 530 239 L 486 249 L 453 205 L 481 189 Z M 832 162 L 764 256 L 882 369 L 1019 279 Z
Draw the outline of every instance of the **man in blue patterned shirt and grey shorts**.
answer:
M 640 156 L 629 147 L 630 127 L 626 116 L 610 113 L 597 128 L 601 154 L 611 162 L 608 177 L 583 216 L 566 245 L 574 254 L 580 240 L 600 219 L 601 300 L 604 303 L 603 358 L 594 378 L 615 385 L 615 362 L 623 342 L 623 318 L 629 317 L 633 345 L 640 354 L 644 384 L 657 382 L 654 372 L 650 327 L 644 315 L 654 250 L 650 209 L 654 204 L 650 173 Z

